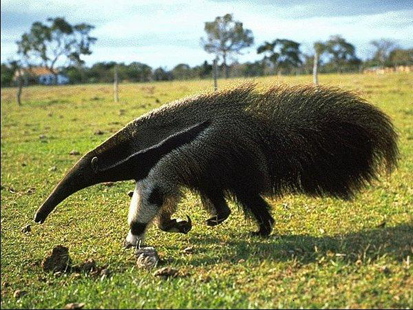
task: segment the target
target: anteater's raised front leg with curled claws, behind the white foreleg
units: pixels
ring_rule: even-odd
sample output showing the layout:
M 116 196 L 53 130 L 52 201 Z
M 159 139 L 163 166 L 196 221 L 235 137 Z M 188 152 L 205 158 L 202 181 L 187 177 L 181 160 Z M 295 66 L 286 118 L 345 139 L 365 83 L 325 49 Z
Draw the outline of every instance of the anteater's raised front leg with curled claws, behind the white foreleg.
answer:
M 162 209 L 160 209 L 158 216 L 156 216 L 156 225 L 163 231 L 187 234 L 192 228 L 191 218 L 189 216 L 187 216 L 187 220 L 171 218 L 176 211 L 178 200 L 179 198 L 177 197 L 169 197 L 165 200 Z

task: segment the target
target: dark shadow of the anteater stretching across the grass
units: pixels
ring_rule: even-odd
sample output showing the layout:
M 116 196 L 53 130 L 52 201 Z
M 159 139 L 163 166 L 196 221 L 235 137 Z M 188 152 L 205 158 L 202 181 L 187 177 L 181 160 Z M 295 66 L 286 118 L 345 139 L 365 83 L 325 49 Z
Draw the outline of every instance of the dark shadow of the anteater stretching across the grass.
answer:
M 193 236 L 192 242 L 216 255 L 194 256 L 192 265 L 209 265 L 217 262 L 238 262 L 244 260 L 297 259 L 301 263 L 323 260 L 323 257 L 337 258 L 348 262 L 368 262 L 384 255 L 403 260 L 412 255 L 413 224 L 405 223 L 395 227 L 366 229 L 336 236 L 314 237 L 303 235 L 274 235 L 268 239 L 248 238 L 240 233 L 231 233 L 231 241 L 220 244 L 220 240 L 208 236 Z M 211 250 L 209 250 L 211 249 Z

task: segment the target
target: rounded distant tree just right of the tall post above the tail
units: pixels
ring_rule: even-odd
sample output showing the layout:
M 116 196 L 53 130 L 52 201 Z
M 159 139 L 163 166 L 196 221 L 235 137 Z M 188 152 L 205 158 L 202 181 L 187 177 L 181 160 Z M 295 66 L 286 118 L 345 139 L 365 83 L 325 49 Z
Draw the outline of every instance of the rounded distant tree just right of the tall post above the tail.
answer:
M 326 52 L 330 54 L 331 61 L 337 72 L 341 72 L 349 63 L 359 61 L 356 56 L 356 48 L 339 35 L 330 37 L 326 42 Z

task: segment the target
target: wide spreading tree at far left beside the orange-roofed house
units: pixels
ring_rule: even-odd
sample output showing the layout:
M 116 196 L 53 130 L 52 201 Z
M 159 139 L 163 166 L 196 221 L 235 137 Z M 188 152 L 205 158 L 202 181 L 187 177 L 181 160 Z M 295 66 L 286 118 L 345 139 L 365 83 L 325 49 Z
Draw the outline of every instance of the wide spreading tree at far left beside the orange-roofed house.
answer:
M 39 63 L 55 75 L 57 81 L 56 63 L 65 59 L 70 63 L 81 64 L 82 55 L 92 54 L 91 45 L 96 38 L 89 32 L 94 28 L 87 23 L 70 25 L 64 18 L 47 19 L 48 25 L 39 21 L 32 24 L 30 32 L 26 32 L 17 41 L 18 54 L 39 60 Z

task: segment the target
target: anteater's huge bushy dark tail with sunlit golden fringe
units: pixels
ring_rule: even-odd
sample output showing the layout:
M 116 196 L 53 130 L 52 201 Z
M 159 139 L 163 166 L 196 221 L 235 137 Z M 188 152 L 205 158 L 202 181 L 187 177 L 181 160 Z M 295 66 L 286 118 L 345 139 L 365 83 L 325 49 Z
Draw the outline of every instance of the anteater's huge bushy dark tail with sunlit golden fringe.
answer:
M 276 86 L 248 107 L 261 115 L 274 194 L 352 198 L 396 166 L 390 118 L 352 92 Z M 266 142 L 265 142 L 266 141 Z

